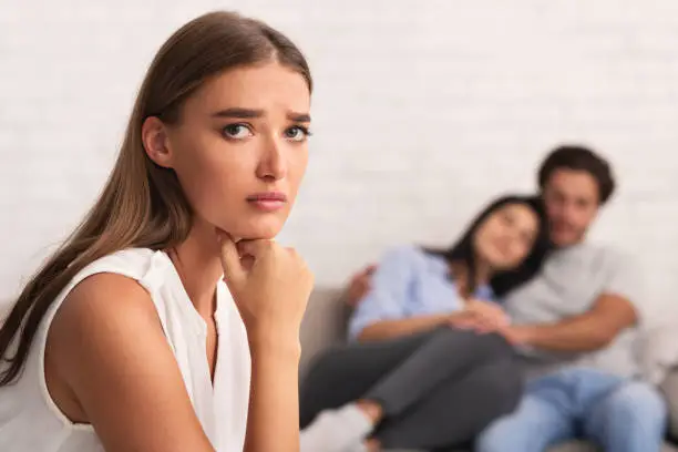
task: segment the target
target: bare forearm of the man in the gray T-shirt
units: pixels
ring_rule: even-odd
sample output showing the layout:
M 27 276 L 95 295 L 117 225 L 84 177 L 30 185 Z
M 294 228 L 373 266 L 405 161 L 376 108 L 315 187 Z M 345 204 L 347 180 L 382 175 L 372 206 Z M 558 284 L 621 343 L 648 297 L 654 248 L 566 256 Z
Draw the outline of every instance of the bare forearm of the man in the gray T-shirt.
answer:
M 504 336 L 514 343 L 549 351 L 594 351 L 607 347 L 637 321 L 638 314 L 628 299 L 603 294 L 587 312 L 557 323 L 508 327 Z

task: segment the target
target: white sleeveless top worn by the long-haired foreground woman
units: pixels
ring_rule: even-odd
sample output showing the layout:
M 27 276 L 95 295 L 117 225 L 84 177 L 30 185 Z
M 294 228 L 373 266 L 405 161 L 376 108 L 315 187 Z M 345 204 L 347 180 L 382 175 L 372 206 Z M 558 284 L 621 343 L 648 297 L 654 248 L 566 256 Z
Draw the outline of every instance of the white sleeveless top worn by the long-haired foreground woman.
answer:
M 80 271 L 44 316 L 16 384 L 0 388 L 0 451 L 102 452 L 93 428 L 73 424 L 56 408 L 44 380 L 47 332 L 66 295 L 84 278 L 113 273 L 136 279 L 151 295 L 193 408 L 217 452 L 242 452 L 249 400 L 250 356 L 245 326 L 223 281 L 215 312 L 218 348 L 214 387 L 205 352 L 207 326 L 163 251 L 127 249 Z M 151 425 L 148 425 L 151 428 Z

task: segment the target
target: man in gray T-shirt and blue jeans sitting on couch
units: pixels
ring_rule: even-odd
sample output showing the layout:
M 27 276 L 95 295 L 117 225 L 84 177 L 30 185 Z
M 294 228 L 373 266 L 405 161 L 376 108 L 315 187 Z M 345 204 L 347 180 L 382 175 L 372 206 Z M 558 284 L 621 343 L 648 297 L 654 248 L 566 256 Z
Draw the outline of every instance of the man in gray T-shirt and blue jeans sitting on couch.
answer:
M 521 351 L 528 382 L 516 411 L 493 422 L 476 449 L 542 452 L 586 438 L 608 452 L 658 452 L 667 408 L 636 379 L 636 335 L 648 310 L 639 271 L 585 242 L 615 188 L 609 165 L 590 150 L 563 146 L 543 162 L 538 183 L 555 249 L 505 298 L 512 325 L 499 331 Z M 353 278 L 353 300 L 369 289 L 371 270 Z

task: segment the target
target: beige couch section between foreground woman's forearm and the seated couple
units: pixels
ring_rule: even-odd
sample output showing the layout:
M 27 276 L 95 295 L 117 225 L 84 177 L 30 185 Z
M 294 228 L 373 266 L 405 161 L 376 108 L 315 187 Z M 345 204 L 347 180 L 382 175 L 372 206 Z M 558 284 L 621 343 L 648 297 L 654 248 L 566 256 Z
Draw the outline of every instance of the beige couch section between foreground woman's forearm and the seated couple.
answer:
M 304 379 L 309 362 L 316 355 L 346 342 L 346 328 L 351 309 L 346 304 L 345 297 L 346 292 L 342 289 L 314 289 L 299 332 L 300 380 Z

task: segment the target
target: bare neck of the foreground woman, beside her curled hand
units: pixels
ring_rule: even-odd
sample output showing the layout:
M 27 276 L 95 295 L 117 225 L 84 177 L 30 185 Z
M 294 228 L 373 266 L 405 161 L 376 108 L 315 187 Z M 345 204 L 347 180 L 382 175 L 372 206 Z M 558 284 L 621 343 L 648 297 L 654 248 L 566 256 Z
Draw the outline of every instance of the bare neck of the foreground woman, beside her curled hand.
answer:
M 193 306 L 210 319 L 216 310 L 216 285 L 224 274 L 214 226 L 196 219 L 188 237 L 167 254 Z

